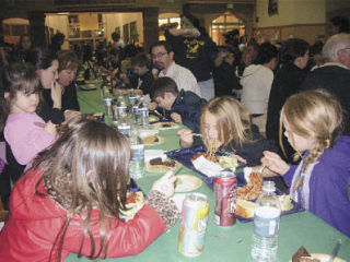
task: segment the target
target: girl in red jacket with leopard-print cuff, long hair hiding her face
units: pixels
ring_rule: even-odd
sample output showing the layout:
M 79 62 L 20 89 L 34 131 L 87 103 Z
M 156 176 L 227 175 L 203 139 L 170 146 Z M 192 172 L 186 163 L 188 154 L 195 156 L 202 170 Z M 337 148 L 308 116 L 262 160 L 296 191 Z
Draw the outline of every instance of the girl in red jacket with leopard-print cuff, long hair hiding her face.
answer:
M 121 221 L 129 181 L 129 141 L 104 123 L 73 124 L 42 152 L 15 186 L 0 234 L 3 261 L 63 261 L 141 252 L 178 217 L 166 174 L 128 222 Z M 142 205 L 142 203 L 139 203 Z

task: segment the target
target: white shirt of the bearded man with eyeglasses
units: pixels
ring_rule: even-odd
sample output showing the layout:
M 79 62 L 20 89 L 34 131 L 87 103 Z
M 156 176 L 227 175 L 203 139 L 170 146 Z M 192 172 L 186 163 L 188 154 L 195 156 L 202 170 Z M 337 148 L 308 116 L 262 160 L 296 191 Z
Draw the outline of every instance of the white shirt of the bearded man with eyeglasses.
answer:
M 200 90 L 197 84 L 195 75 L 186 68 L 178 66 L 173 62 L 168 68 L 166 73 L 160 72 L 159 78 L 171 78 L 175 81 L 178 91 L 190 91 L 200 96 Z

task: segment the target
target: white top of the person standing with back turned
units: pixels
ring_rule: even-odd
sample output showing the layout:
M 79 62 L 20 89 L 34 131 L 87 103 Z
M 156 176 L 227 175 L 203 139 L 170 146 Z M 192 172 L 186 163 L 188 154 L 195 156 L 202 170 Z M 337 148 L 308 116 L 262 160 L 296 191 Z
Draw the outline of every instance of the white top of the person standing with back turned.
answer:
M 273 72 L 262 64 L 250 64 L 241 79 L 242 104 L 250 114 L 267 114 Z

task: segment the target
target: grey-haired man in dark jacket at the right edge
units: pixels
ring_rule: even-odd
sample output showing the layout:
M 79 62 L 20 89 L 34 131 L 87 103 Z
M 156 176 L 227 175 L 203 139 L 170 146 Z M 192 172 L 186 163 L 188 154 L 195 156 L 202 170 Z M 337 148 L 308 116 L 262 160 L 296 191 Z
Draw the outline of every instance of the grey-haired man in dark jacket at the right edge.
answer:
M 343 115 L 343 134 L 350 135 L 350 34 L 329 37 L 323 47 L 325 64 L 310 72 L 302 90 L 325 88 L 339 99 Z

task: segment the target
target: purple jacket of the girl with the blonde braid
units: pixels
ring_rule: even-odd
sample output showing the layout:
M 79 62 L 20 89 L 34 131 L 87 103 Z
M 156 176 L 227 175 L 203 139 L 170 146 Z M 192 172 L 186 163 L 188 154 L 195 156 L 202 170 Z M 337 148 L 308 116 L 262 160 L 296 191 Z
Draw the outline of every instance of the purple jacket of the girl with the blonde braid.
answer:
M 308 183 L 308 211 L 350 237 L 350 201 L 347 194 L 350 136 L 339 136 L 336 145 L 325 150 L 317 160 Z M 291 187 L 295 169 L 296 166 L 291 166 L 283 175 L 288 187 Z

